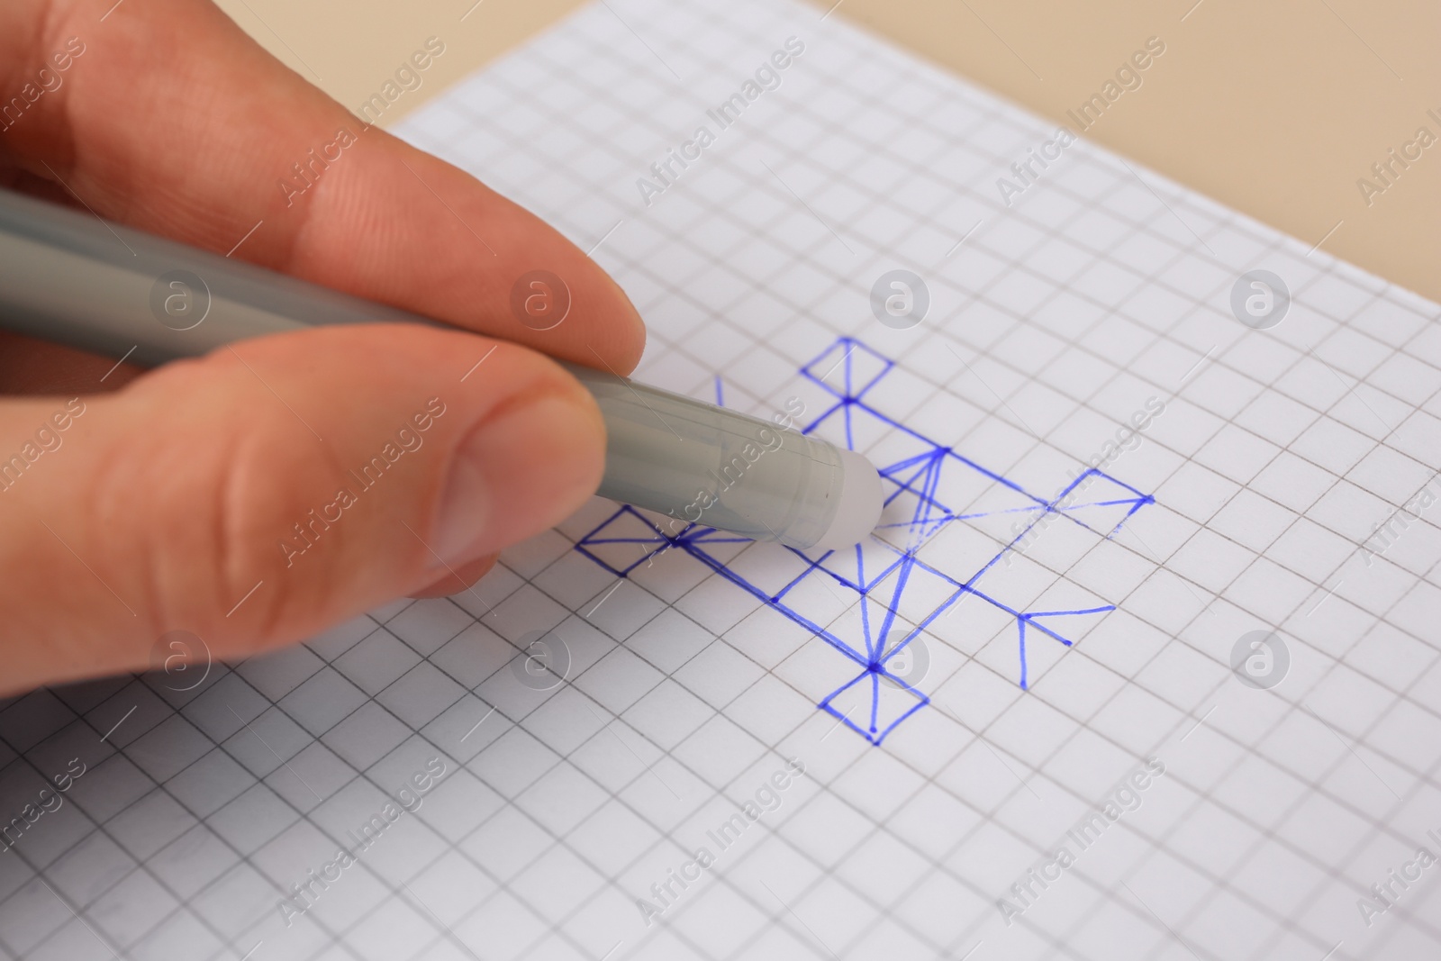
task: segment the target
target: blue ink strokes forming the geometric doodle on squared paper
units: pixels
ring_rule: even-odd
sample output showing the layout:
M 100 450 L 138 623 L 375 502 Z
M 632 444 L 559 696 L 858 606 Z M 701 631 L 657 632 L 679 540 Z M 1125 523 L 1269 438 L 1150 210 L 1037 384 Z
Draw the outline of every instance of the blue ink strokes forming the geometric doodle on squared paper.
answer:
M 839 360 L 836 360 L 837 350 L 843 352 Z M 731 571 L 720 556 L 712 553 L 715 545 L 748 543 L 745 537 L 725 535 L 713 527 L 699 524 L 687 524 L 679 533 L 667 535 L 633 507 L 617 510 L 592 532 L 585 535 L 575 546 L 578 552 L 617 576 L 628 576 L 631 571 L 641 563 L 647 563 L 656 555 L 679 549 L 761 604 L 768 605 L 771 609 L 803 627 L 811 637 L 820 638 L 836 648 L 852 660 L 860 669 L 860 673 L 823 697 L 817 706 L 873 745 L 879 745 L 901 722 L 931 703 L 924 692 L 888 670 L 886 663 L 906 650 L 937 618 L 951 611 L 965 596 L 977 596 L 1014 620 L 1019 658 L 1017 683 L 1022 689 L 1029 689 L 1027 628 L 1050 637 L 1063 647 L 1072 647 L 1075 641 L 1042 622 L 1042 620 L 1104 615 L 1114 611 L 1115 607 L 1097 605 L 1063 611 L 1023 611 L 999 599 L 990 589 L 981 591 L 978 588 L 981 578 L 994 571 L 1007 553 L 1019 553 L 1017 545 L 1030 537 L 1038 527 L 1043 529 L 1049 524 L 1049 519 L 1052 517 L 1063 517 L 1089 530 L 1097 537 L 1111 537 L 1137 510 L 1146 504 L 1156 503 L 1153 496 L 1144 494 L 1095 467 L 1082 470 L 1055 497 L 1048 499 L 1027 491 L 1019 483 L 977 464 L 955 452 L 948 445 L 927 438 L 867 403 L 863 399 L 865 395 L 873 390 L 895 366 L 893 360 L 883 357 L 859 340 L 840 337 L 810 363 L 801 366 L 800 373 L 836 399 L 834 403 L 830 403 L 804 428 L 806 434 L 813 434 L 823 426 L 834 424 L 834 428 L 844 435 L 847 447 L 855 450 L 857 428 L 862 422 L 870 422 L 880 428 L 882 432 L 886 432 L 888 439 L 901 438 L 919 445 L 919 452 L 908 454 L 879 468 L 882 483 L 893 488 L 886 494 L 888 514 L 905 511 L 909 516 L 909 520 L 888 516 L 880 527 L 909 529 L 905 549 L 893 547 L 883 540 L 872 537 L 867 543 L 857 545 L 850 550 L 827 550 L 816 556 L 803 550 L 791 550 L 803 562 L 803 571 L 787 581 L 775 594 L 769 594 L 759 585 Z M 843 383 L 839 390 L 817 376 L 817 372 L 831 376 L 837 367 L 840 369 L 840 380 Z M 715 379 L 715 389 L 716 403 L 722 403 L 725 398 L 719 376 Z M 867 434 L 866 437 L 870 435 Z M 955 506 L 945 503 L 945 499 L 951 494 L 942 494 L 942 490 L 948 490 L 942 486 L 950 478 L 954 478 L 957 473 L 961 473 L 963 481 L 968 473 L 971 477 L 991 484 L 994 490 L 1019 497 L 1023 503 L 1020 506 L 997 506 L 990 510 L 958 513 Z M 1079 487 L 1095 481 L 1104 481 L 1095 494 L 1097 500 L 1063 503 Z M 1111 487 L 1107 488 L 1105 484 Z M 961 491 L 965 488 L 963 484 L 955 494 L 964 496 Z M 904 506 L 909 503 L 904 497 L 914 499 L 915 503 Z M 1089 514 L 1078 514 L 1082 507 L 1124 507 L 1125 513 L 1110 530 L 1097 530 L 1085 523 L 1085 517 L 1089 517 Z M 1006 542 L 994 556 L 981 563 L 964 581 L 958 581 L 935 569 L 916 556 L 916 552 L 948 523 L 978 517 L 999 517 L 1003 514 L 1022 514 L 1025 516 L 1025 523 L 1013 523 L 1012 533 L 1014 533 L 1014 537 Z M 638 536 L 621 536 L 627 533 L 624 526 L 630 526 L 631 530 L 635 529 L 635 520 L 640 522 L 640 530 L 644 533 Z M 631 550 L 634 550 L 631 545 L 640 547 L 640 560 L 631 560 Z M 624 552 L 624 556 L 621 552 Z M 850 569 L 852 560 L 855 560 L 855 573 Z M 869 576 L 867 571 L 870 572 Z M 836 620 L 830 627 L 824 627 L 817 621 L 818 615 L 811 615 L 803 609 L 810 601 L 806 592 L 798 592 L 798 588 L 807 578 L 813 576 L 830 578 L 830 582 L 840 585 L 842 589 L 856 594 L 856 601 L 860 604 L 859 637 L 844 637 L 856 631 L 855 621 L 849 618 L 844 622 Z M 892 578 L 893 584 L 891 584 Z M 1003 582 L 1001 588 L 1006 589 L 1006 586 Z M 928 599 L 921 602 L 922 596 Z M 878 609 L 872 611 L 872 605 L 876 605 Z M 902 609 L 909 609 L 915 605 L 919 605 L 915 615 L 902 615 Z M 888 648 L 886 641 L 889 635 L 899 633 L 896 624 L 901 618 L 908 618 L 902 621 L 908 624 L 906 633 Z M 918 622 L 909 625 L 911 620 Z M 867 677 L 869 683 L 866 683 Z M 882 687 L 882 681 L 885 681 L 885 687 Z M 850 718 L 855 707 L 840 710 L 836 706 L 836 699 L 847 694 L 847 692 L 849 696 L 869 697 L 870 700 L 866 718 L 859 723 Z

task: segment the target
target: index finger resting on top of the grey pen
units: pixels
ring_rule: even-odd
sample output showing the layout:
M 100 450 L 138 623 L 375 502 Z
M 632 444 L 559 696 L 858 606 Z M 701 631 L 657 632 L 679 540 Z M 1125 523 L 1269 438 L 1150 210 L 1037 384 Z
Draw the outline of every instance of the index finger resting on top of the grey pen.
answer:
M 542 220 L 365 125 L 210 3 L 122 4 L 99 23 L 108 6 L 19 0 L 0 12 L 14 27 L 0 30 L 0 84 L 23 85 L 71 36 L 85 43 L 65 82 L 4 131 L 3 161 L 16 171 L 53 170 L 76 203 L 144 231 L 235 248 L 578 363 L 634 367 L 644 327 L 630 301 Z M 161 69 L 156 50 L 166 50 Z M 386 79 L 378 73 L 376 85 Z M 343 148 L 342 131 L 353 140 Z M 552 330 L 532 330 L 512 308 L 512 288 L 535 269 L 569 291 Z

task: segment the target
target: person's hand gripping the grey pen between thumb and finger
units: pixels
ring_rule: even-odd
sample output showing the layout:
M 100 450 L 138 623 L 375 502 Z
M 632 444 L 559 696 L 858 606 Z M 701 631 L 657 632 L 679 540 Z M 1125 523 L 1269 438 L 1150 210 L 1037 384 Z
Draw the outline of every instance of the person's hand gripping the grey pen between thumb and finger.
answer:
M 599 483 L 594 402 L 527 347 L 625 373 L 644 341 L 565 238 L 210 3 L 112 4 L 0 7 L 0 184 L 514 343 L 317 328 L 143 373 L 0 339 L 0 390 L 48 395 L 0 403 L 0 693 L 143 670 L 173 630 L 238 658 L 461 589 Z M 342 128 L 313 186 L 280 187 Z M 569 287 L 552 330 L 510 313 L 532 269 Z

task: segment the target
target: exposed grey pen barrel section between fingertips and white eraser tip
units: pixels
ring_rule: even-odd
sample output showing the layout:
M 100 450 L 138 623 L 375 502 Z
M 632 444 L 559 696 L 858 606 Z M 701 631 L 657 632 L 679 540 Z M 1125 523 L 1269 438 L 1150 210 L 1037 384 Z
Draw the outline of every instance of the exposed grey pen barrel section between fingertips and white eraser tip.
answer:
M 599 494 L 754 540 L 814 546 L 840 501 L 834 447 L 745 414 L 566 365 L 605 419 Z

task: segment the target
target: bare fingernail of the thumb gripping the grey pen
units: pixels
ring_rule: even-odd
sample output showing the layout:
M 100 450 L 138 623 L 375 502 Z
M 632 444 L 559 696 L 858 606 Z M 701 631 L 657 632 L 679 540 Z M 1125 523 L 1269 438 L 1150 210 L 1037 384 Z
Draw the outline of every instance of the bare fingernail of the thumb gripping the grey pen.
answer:
M 604 426 L 588 396 L 546 395 L 476 425 L 451 457 L 432 545 L 444 571 L 558 523 L 595 493 Z

